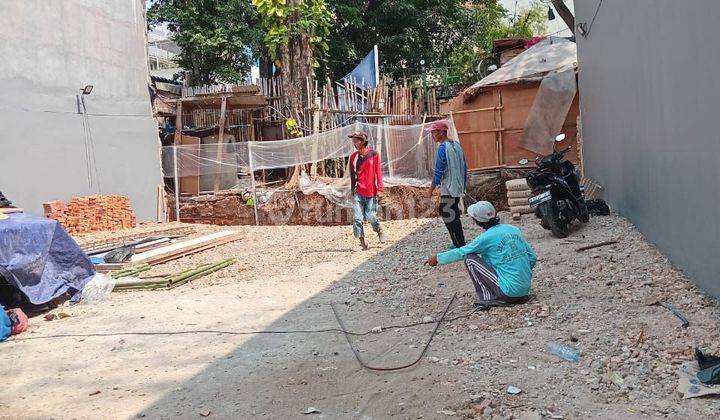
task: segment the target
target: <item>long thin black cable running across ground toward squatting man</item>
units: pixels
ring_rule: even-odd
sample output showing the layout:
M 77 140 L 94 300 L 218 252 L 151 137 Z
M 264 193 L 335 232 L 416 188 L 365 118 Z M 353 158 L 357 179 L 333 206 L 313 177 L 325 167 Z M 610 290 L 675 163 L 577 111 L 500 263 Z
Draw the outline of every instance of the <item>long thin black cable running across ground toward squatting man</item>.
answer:
M 451 304 L 455 300 L 457 293 L 453 295 Z M 450 305 L 448 305 L 448 309 L 450 308 Z M 445 309 L 445 312 L 443 313 L 443 318 L 447 314 L 448 309 Z M 478 312 L 480 308 L 475 308 L 472 311 L 463 314 L 458 315 L 453 318 L 443 319 L 444 322 L 453 322 L 457 321 L 458 319 L 463 318 L 469 318 L 476 312 Z M 333 308 L 334 311 L 334 308 Z M 420 322 L 413 322 L 410 324 L 402 324 L 402 325 L 388 325 L 388 326 L 381 326 L 382 330 L 391 330 L 391 329 L 403 329 L 403 328 L 411 328 L 411 327 L 417 327 L 420 325 L 428 325 L 428 324 L 435 324 L 437 321 L 420 321 Z M 436 326 L 437 327 L 437 326 Z M 370 331 L 364 331 L 364 332 L 354 332 L 354 331 L 347 331 L 344 328 L 324 328 L 324 329 L 317 329 L 317 330 L 258 330 L 258 331 L 226 331 L 226 330 L 182 330 L 182 331 L 139 331 L 139 332 L 108 332 L 108 333 L 87 333 L 87 334 L 56 334 L 56 335 L 42 335 L 42 336 L 36 336 L 36 337 L 13 337 L 10 341 L 30 341 L 30 340 L 47 340 L 51 338 L 88 338 L 88 337 L 121 337 L 121 336 L 155 336 L 155 335 L 191 335 L 191 334 L 218 334 L 218 335 L 255 335 L 255 334 L 324 334 L 324 333 L 334 333 L 334 334 L 345 334 L 345 335 L 352 335 L 352 336 L 365 336 L 374 334 L 372 330 Z

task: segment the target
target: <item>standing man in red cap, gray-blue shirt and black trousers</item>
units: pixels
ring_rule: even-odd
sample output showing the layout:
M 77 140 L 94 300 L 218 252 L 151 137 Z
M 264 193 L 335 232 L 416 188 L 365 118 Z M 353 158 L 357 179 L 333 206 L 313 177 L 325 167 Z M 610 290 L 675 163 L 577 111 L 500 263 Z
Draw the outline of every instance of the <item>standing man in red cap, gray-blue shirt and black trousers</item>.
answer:
M 449 126 L 443 120 L 434 121 L 425 129 L 433 136 L 433 140 L 440 144 L 435 155 L 435 176 L 427 196 L 432 198 L 435 188 L 440 186 L 438 212 L 450 233 L 453 247 L 460 248 L 465 245 L 465 234 L 460 220 L 460 199 L 465 196 L 467 164 L 460 142 L 448 138 L 448 130 Z

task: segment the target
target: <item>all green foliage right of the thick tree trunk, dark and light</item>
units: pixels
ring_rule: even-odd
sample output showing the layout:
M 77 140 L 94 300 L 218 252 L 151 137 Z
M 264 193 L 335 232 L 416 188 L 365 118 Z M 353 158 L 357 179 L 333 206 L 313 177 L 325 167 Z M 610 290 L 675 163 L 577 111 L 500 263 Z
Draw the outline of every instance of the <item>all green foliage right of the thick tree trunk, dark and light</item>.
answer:
M 493 40 L 544 33 L 547 20 L 539 1 L 514 19 L 498 0 L 330 3 L 336 16 L 326 71 L 331 78 L 347 74 L 377 44 L 383 74 L 401 78 L 450 67 L 450 79 L 470 81 Z

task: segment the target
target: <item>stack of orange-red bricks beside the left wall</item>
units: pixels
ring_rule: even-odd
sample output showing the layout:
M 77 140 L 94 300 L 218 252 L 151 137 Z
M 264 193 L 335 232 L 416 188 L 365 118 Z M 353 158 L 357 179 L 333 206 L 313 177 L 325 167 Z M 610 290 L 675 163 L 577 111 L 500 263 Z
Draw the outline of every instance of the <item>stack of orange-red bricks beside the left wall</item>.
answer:
M 122 195 L 76 197 L 65 204 L 48 201 L 43 204 L 45 217 L 57 220 L 68 233 L 97 232 L 135 227 L 135 211 Z

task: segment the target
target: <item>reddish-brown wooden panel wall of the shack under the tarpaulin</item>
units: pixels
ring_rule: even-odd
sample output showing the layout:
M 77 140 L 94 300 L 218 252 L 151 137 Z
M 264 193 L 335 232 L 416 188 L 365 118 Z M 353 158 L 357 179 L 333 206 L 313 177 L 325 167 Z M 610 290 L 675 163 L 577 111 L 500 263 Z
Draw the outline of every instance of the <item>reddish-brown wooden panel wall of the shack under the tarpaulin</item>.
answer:
M 538 87 L 539 83 L 508 85 L 484 91 L 468 103 L 463 103 L 462 95 L 453 99 L 450 108 L 469 169 L 534 161 L 536 153 L 520 147 L 520 139 Z M 567 157 L 576 164 L 579 113 L 576 95 L 562 128 L 566 139 L 558 145 L 573 147 Z

